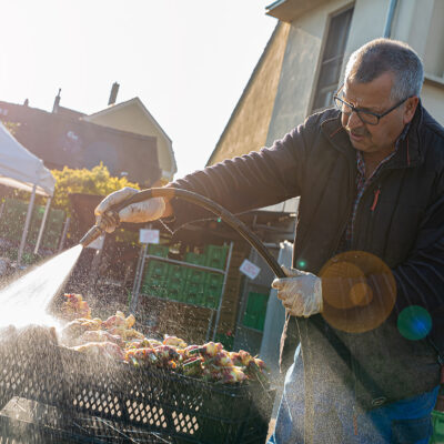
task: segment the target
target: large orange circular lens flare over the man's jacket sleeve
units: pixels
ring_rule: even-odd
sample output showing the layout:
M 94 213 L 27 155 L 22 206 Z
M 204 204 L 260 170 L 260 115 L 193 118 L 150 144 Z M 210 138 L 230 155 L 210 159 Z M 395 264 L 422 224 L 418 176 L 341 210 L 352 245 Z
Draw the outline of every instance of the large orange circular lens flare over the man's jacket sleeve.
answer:
M 349 251 L 320 271 L 325 321 L 347 333 L 376 329 L 390 315 L 396 283 L 390 268 L 374 254 Z

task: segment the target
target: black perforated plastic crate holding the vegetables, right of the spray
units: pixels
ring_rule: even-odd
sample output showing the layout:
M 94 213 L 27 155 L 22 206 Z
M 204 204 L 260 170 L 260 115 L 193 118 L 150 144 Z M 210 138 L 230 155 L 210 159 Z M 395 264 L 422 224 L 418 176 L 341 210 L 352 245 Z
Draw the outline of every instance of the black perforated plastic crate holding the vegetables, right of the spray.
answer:
M 67 364 L 63 408 L 182 438 L 178 442 L 265 441 L 274 392 L 259 384 L 226 386 L 67 349 L 60 353 Z

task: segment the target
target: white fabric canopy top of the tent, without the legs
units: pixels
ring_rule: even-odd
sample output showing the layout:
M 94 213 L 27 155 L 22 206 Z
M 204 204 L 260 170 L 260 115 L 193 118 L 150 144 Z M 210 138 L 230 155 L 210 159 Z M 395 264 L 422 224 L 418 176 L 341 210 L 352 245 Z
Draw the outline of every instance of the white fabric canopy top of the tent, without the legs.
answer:
M 43 162 L 20 144 L 0 122 L 0 183 L 52 196 L 56 179 Z

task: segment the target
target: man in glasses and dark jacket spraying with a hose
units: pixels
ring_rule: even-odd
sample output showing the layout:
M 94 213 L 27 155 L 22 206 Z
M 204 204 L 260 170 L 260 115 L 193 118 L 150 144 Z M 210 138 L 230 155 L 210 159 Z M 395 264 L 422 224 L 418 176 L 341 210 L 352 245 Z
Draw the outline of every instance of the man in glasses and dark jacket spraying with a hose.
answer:
M 440 319 L 414 341 L 398 329 L 404 309 L 433 315 L 444 305 L 444 129 L 421 105 L 422 83 L 423 67 L 410 47 L 371 41 L 351 56 L 336 109 L 309 117 L 270 149 L 171 183 L 234 213 L 301 196 L 293 269 L 273 282 L 292 315 L 285 354 L 300 346 L 271 442 L 428 441 Z M 108 196 L 98 206 L 99 222 L 110 204 L 134 192 Z M 159 198 L 120 213 L 127 222 L 173 216 L 172 226 L 203 215 Z M 355 294 L 353 276 L 320 276 L 343 252 L 370 254 L 390 268 L 390 278 L 365 273 L 369 301 L 384 304 L 394 276 L 394 307 L 389 301 L 390 316 L 373 327 L 360 330 L 360 319 L 352 319 L 354 331 L 325 322 L 332 287 Z

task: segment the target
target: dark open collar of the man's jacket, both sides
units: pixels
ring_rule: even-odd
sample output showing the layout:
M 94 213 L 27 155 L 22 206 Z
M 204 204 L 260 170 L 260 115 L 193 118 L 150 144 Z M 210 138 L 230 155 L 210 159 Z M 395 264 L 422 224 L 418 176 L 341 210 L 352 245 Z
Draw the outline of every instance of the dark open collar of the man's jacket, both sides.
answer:
M 420 101 L 405 139 L 401 142 L 395 155 L 386 163 L 389 169 L 413 168 L 423 162 L 418 129 L 423 121 L 424 109 Z M 350 143 L 349 134 L 341 123 L 337 110 L 327 110 L 321 122 L 321 131 L 330 143 L 349 159 L 356 159 L 356 151 Z

